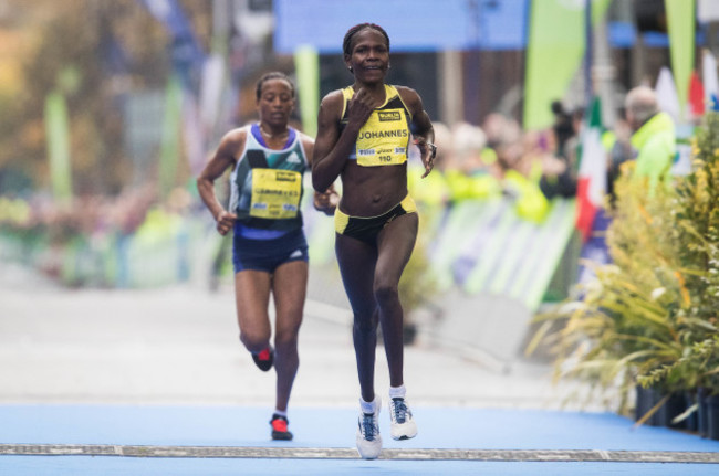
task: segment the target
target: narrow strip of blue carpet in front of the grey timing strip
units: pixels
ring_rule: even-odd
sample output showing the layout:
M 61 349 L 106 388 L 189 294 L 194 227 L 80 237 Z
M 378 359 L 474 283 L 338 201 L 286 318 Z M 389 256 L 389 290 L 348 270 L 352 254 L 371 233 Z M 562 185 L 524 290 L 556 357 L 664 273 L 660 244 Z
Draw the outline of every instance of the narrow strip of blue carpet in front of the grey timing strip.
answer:
M 3 469 L 4 468 L 4 469 Z M 4 473 L 7 470 L 7 473 Z M 164 459 L 87 456 L 3 456 L 0 474 L 12 476 L 362 476 L 362 475 L 717 475 L 717 465 L 681 463 L 487 463 L 326 459 Z

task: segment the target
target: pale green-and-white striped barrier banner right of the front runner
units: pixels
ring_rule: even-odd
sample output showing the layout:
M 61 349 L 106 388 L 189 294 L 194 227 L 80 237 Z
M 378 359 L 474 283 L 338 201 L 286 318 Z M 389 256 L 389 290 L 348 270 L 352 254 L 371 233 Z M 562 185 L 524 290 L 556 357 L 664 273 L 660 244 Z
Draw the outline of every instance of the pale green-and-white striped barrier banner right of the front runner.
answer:
M 447 213 L 429 250 L 439 289 L 502 295 L 536 310 L 574 233 L 574 200 L 552 201 L 541 223 L 506 198 L 467 200 Z

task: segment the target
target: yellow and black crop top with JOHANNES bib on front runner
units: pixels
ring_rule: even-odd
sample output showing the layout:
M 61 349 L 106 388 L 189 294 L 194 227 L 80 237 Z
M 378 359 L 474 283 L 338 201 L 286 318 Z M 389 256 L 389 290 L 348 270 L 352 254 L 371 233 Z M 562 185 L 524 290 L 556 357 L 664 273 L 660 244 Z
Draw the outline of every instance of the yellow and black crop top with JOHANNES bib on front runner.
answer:
M 352 86 L 342 89 L 344 107 L 342 125 L 347 124 L 347 104 L 354 95 Z M 373 110 L 359 129 L 357 142 L 350 155 L 363 167 L 398 166 L 407 161 L 409 148 L 409 123 L 411 114 L 399 97 L 397 88 L 385 84 L 385 103 Z

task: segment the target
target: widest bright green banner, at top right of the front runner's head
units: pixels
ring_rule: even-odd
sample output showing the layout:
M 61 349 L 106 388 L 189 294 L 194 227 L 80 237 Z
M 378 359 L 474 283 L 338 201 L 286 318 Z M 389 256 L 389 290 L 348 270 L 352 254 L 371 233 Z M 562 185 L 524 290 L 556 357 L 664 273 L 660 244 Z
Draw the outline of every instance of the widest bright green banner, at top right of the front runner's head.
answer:
M 551 126 L 551 104 L 561 101 L 582 65 L 586 43 L 584 9 L 590 0 L 541 0 L 530 3 L 524 128 Z M 609 0 L 593 0 L 592 22 L 604 17 Z

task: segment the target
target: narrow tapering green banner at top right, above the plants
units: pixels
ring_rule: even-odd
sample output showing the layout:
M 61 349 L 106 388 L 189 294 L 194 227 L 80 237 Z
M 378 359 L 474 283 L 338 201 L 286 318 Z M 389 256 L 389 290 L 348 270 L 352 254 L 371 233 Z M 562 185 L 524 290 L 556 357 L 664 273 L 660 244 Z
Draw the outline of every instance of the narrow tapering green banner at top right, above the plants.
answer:
M 689 77 L 694 70 L 695 0 L 664 0 L 669 27 L 671 71 L 677 85 L 681 119 L 686 120 Z

